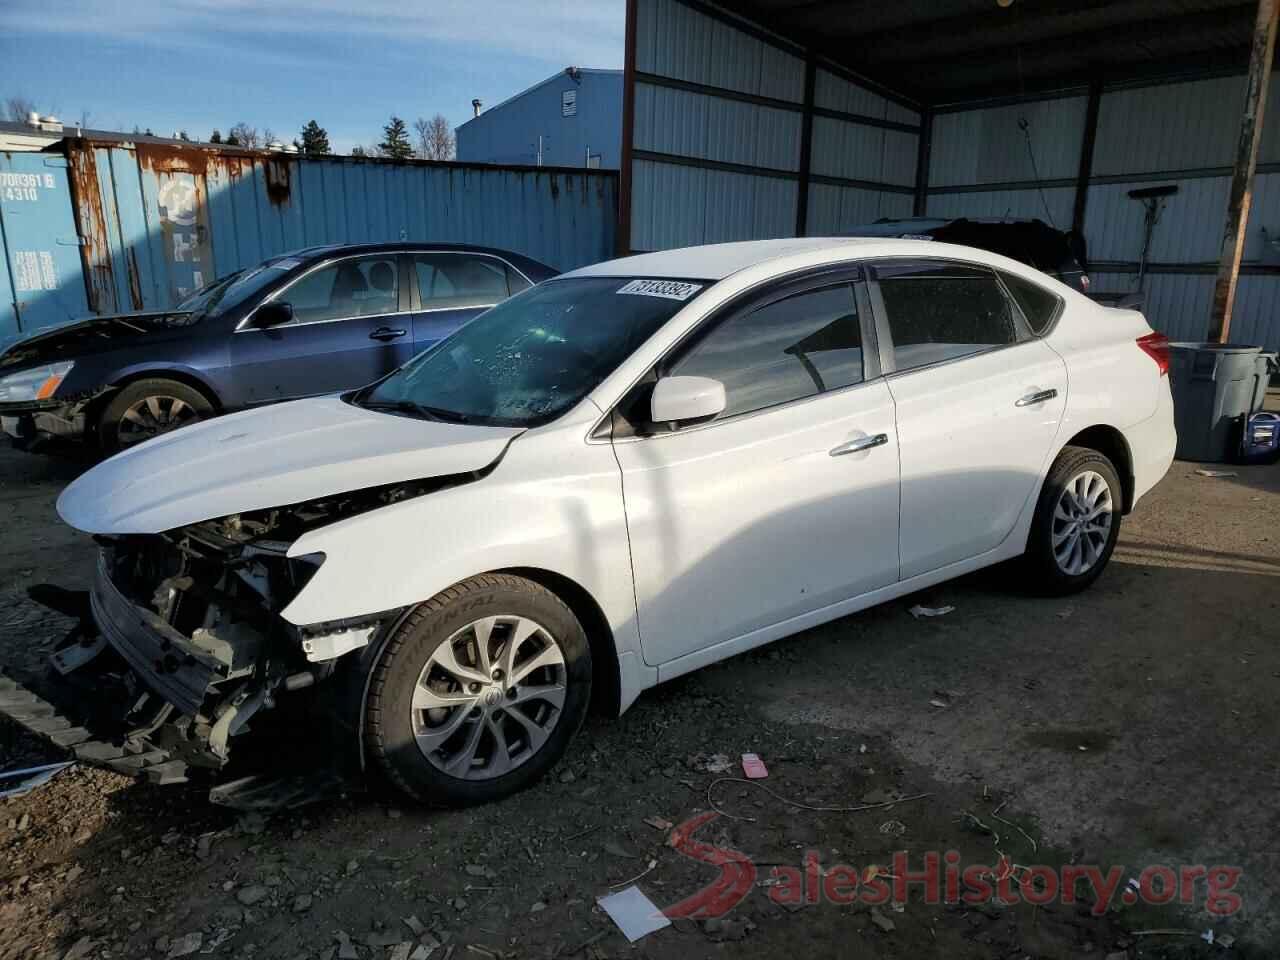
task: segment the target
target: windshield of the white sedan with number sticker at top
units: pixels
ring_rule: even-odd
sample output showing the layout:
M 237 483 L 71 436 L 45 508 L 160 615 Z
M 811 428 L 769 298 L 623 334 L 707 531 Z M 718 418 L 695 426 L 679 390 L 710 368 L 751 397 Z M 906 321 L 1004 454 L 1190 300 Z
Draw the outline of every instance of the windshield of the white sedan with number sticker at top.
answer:
M 548 280 L 481 314 L 352 402 L 457 422 L 545 424 L 707 285 L 625 276 Z

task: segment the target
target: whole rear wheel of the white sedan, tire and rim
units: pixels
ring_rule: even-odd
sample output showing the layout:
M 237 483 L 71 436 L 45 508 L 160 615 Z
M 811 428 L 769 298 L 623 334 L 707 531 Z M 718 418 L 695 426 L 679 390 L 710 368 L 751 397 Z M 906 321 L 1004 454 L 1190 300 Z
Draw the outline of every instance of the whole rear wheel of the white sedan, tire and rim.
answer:
M 1111 461 L 1094 449 L 1065 447 L 1036 506 L 1023 557 L 1027 585 L 1064 596 L 1093 584 L 1115 550 L 1123 504 Z

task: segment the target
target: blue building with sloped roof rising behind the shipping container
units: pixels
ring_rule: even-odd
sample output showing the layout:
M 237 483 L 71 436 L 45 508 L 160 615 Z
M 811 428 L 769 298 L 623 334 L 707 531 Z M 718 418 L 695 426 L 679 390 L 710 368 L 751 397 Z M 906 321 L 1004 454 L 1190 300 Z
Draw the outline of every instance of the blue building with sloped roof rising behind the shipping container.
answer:
M 573 93 L 566 115 L 563 97 Z M 617 170 L 622 154 L 622 70 L 561 70 L 541 83 L 485 110 L 457 129 L 458 160 L 477 164 L 534 164 L 538 137 L 543 164 Z

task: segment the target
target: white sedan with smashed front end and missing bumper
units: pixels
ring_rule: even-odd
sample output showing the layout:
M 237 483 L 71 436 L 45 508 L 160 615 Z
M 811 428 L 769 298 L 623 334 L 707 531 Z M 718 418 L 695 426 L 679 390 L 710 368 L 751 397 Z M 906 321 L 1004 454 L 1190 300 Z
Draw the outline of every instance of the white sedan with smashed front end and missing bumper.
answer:
M 593 699 L 1001 561 L 1088 586 L 1172 460 L 1166 370 L 1140 314 L 978 250 L 673 250 L 125 451 L 58 509 L 102 544 L 104 655 L 169 707 L 137 749 L 216 768 L 320 696 L 362 763 L 475 803 Z

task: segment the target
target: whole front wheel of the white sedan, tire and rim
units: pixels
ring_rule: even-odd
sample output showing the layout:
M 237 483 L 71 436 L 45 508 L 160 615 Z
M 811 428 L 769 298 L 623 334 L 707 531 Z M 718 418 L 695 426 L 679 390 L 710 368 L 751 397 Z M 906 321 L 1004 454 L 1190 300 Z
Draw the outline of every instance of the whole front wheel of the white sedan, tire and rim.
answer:
M 370 677 L 365 746 L 420 803 L 509 796 L 561 758 L 586 717 L 582 625 L 524 577 L 472 577 L 415 609 Z

